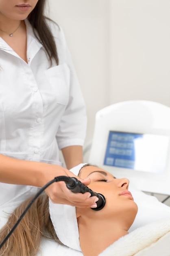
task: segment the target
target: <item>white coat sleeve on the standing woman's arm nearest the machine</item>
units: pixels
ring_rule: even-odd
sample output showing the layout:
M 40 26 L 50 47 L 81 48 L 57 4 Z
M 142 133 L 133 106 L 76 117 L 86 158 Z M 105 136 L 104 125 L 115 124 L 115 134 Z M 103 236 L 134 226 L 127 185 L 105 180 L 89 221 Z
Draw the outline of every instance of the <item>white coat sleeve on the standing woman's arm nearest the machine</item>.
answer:
M 65 62 L 70 70 L 69 101 L 56 135 L 58 146 L 61 149 L 73 145 L 83 146 L 87 128 L 87 116 L 81 88 L 62 29 L 60 29 L 60 36 L 62 38 L 59 53 L 59 58 L 61 56 L 60 63 Z

